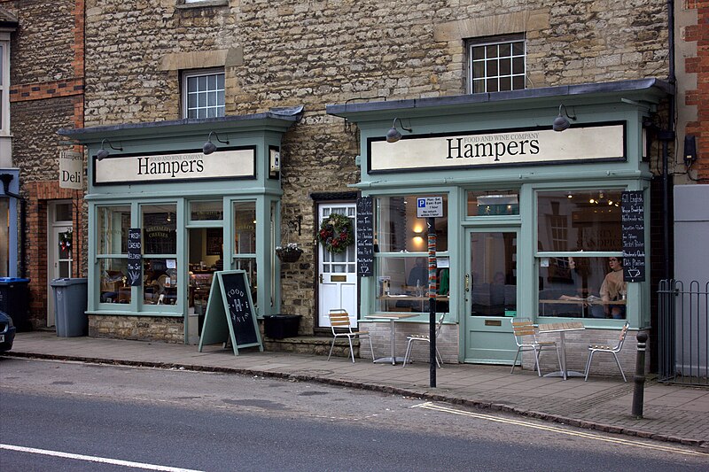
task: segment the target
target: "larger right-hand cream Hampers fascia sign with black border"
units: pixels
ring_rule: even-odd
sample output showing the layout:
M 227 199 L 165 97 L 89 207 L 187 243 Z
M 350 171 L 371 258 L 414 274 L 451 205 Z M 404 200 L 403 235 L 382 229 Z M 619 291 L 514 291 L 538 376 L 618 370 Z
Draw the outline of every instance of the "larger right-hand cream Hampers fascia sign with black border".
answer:
M 495 133 L 404 136 L 397 143 L 370 138 L 370 172 L 623 160 L 625 124 L 569 128 L 526 128 Z

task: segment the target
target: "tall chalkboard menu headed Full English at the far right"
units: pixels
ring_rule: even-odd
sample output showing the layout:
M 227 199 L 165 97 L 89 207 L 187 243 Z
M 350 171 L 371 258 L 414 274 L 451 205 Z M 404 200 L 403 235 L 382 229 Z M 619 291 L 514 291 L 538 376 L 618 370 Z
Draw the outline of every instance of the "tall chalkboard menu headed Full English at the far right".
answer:
M 626 191 L 620 199 L 623 227 L 623 280 L 645 280 L 645 203 L 642 190 Z

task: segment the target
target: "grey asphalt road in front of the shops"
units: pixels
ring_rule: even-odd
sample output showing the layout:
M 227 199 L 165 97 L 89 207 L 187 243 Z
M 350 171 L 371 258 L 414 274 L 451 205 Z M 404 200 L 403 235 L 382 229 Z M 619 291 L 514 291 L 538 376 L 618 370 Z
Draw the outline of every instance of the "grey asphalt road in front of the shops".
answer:
M 144 469 L 650 472 L 709 454 L 316 383 L 0 358 L 0 470 Z

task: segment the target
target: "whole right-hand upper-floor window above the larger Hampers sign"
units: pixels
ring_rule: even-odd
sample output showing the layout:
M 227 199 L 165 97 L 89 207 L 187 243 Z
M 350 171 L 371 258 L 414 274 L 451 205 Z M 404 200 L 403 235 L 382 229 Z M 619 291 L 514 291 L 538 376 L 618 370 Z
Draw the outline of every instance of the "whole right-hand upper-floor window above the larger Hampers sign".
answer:
M 468 93 L 524 89 L 525 52 L 522 35 L 471 40 L 468 43 Z

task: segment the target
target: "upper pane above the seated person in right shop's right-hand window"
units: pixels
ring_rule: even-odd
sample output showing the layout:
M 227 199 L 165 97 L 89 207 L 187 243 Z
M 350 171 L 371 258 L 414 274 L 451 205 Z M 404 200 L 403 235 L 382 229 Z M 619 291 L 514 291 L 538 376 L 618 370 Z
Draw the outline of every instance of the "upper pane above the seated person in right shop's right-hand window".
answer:
M 621 251 L 620 192 L 540 192 L 539 251 Z

